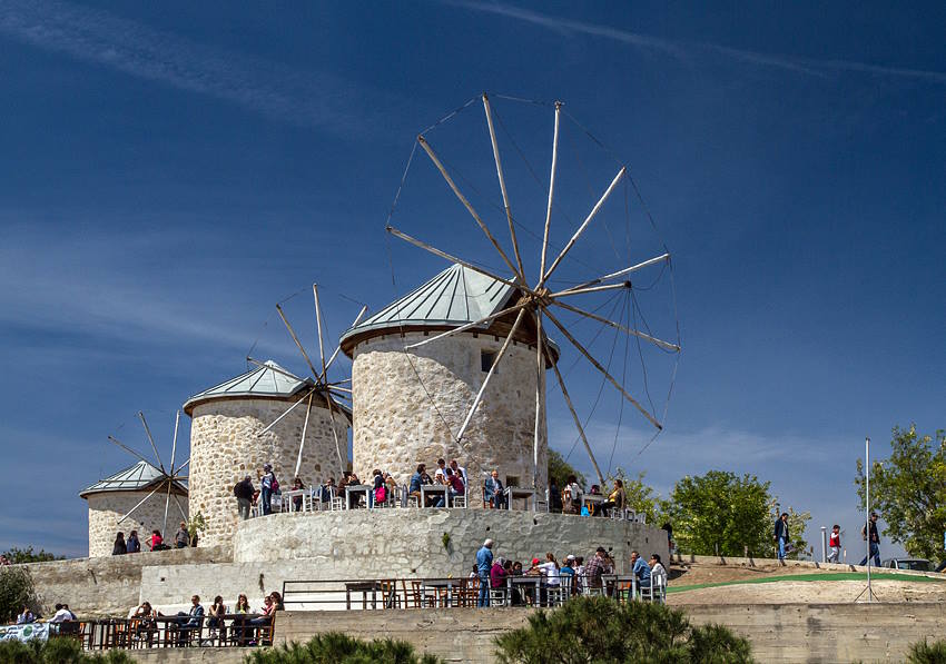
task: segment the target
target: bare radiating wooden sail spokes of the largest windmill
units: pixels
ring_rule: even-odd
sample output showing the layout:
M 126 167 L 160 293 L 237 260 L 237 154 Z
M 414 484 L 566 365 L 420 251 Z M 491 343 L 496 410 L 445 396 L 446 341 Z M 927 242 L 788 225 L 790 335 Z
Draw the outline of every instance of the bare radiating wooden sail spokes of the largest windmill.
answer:
M 511 98 L 505 98 L 511 99 Z M 482 100 L 483 110 L 485 113 L 485 129 L 489 135 L 490 147 L 492 149 L 492 161 L 495 166 L 495 177 L 499 184 L 499 192 L 502 197 L 502 212 L 505 217 L 505 221 L 509 226 L 510 234 L 510 242 L 512 246 L 512 255 L 508 254 L 506 250 L 503 249 L 503 245 L 499 241 L 499 239 L 490 231 L 483 217 L 481 214 L 474 208 L 470 198 L 464 195 L 464 191 L 461 189 L 461 186 L 457 184 L 460 180 L 459 177 L 454 177 L 451 172 L 451 169 L 445 165 L 445 160 L 438 155 L 438 152 L 434 149 L 431 140 L 428 138 L 428 133 L 432 129 L 438 127 L 440 125 L 451 120 L 455 116 L 457 116 L 462 110 L 466 109 L 475 101 Z M 522 100 L 516 100 L 522 101 Z M 541 251 L 538 257 L 536 262 L 539 264 L 538 274 L 534 278 L 530 279 L 530 275 L 525 269 L 525 265 L 523 262 L 523 256 L 520 250 L 519 238 L 516 237 L 516 227 L 521 226 L 519 221 L 513 217 L 512 207 L 509 196 L 509 190 L 506 187 L 506 178 L 504 175 L 503 161 L 501 158 L 500 145 L 496 137 L 496 129 L 494 125 L 494 109 L 491 106 L 490 97 L 486 93 L 483 93 L 479 98 L 473 98 L 466 102 L 464 107 L 461 107 L 453 113 L 446 116 L 440 122 L 432 126 L 430 129 L 425 130 L 421 135 L 417 136 L 416 142 L 414 145 L 413 151 L 411 153 L 411 158 L 407 162 L 407 168 L 404 172 L 404 177 L 401 181 L 401 187 L 398 188 L 397 195 L 395 196 L 394 205 L 392 206 L 391 215 L 388 216 L 388 222 L 386 226 L 387 232 L 392 236 L 397 237 L 406 242 L 424 249 L 437 256 L 440 258 L 446 259 L 454 264 L 459 264 L 466 269 L 473 270 L 475 272 L 482 274 L 495 281 L 515 288 L 520 295 L 518 300 L 500 311 L 493 313 L 486 317 L 480 318 L 479 320 L 471 321 L 466 325 L 462 325 L 455 328 L 452 328 L 447 331 L 437 334 L 435 336 L 431 336 L 430 338 L 425 338 L 421 341 L 406 345 L 404 347 L 405 351 L 417 349 L 421 346 L 427 344 L 436 344 L 438 340 L 450 337 L 452 335 L 456 335 L 460 333 L 464 333 L 467 330 L 476 331 L 477 328 L 481 328 L 485 324 L 490 324 L 493 320 L 496 320 L 501 317 L 511 317 L 515 316 L 514 323 L 512 324 L 511 329 L 505 336 L 505 340 L 496 354 L 494 360 L 492 361 L 492 366 L 490 367 L 486 376 L 484 377 L 482 385 L 479 388 L 479 392 L 474 396 L 472 403 L 470 404 L 469 410 L 466 412 L 466 416 L 460 426 L 459 432 L 454 435 L 457 442 L 460 442 L 463 436 L 466 434 L 471 420 L 476 413 L 477 407 L 480 406 L 483 396 L 486 392 L 486 388 L 490 384 L 490 379 L 496 371 L 496 368 L 501 365 L 503 357 L 509 349 L 509 346 L 513 338 L 516 336 L 518 331 L 526 330 L 524 334 L 531 334 L 531 330 L 535 330 L 534 344 L 536 348 L 536 358 L 535 366 L 536 371 L 539 374 L 539 379 L 536 380 L 535 388 L 535 422 L 534 422 L 534 435 L 533 435 L 533 485 L 538 485 L 538 466 L 539 466 L 539 448 L 540 448 L 540 418 L 542 413 L 542 390 L 541 385 L 543 384 L 542 377 L 544 376 L 544 370 L 546 366 L 551 366 L 555 374 L 555 379 L 558 381 L 559 387 L 561 388 L 562 396 L 564 398 L 565 404 L 568 405 L 569 412 L 571 413 L 572 419 L 574 420 L 575 427 L 578 429 L 579 437 L 581 438 L 585 452 L 588 453 L 591 463 L 594 467 L 594 472 L 598 476 L 599 482 L 604 484 L 604 476 L 601 473 L 601 468 L 598 465 L 598 462 L 594 458 L 594 454 L 592 453 L 591 445 L 588 439 L 588 435 L 585 433 L 585 427 L 582 426 L 581 419 L 575 410 L 574 404 L 572 402 L 571 395 L 569 394 L 568 387 L 565 386 L 565 380 L 556 366 L 556 361 L 552 358 L 549 346 L 550 340 L 546 336 L 546 330 L 555 329 L 559 334 L 561 334 L 564 339 L 579 353 L 580 357 L 587 361 L 597 373 L 599 373 L 603 380 L 613 387 L 618 394 L 620 394 L 621 398 L 627 403 L 632 405 L 639 414 L 649 423 L 650 426 L 653 427 L 656 432 L 660 432 L 662 429 L 662 424 L 659 420 L 659 417 L 656 412 L 653 412 L 653 407 L 648 409 L 642 403 L 630 394 L 630 390 L 625 386 L 623 380 L 619 380 L 612 375 L 611 371 L 604 366 L 604 363 L 597 359 L 594 355 L 590 351 L 590 349 L 580 343 L 575 338 L 575 334 L 573 330 L 569 329 L 569 325 L 565 323 L 563 313 L 569 313 L 570 315 L 578 316 L 579 318 L 593 320 L 602 326 L 607 326 L 615 330 L 617 333 L 623 334 L 628 337 L 635 338 L 637 343 L 643 341 L 644 344 L 650 344 L 660 348 L 661 350 L 670 354 L 677 354 L 679 357 L 680 353 L 680 340 L 679 333 L 677 334 L 677 339 L 673 341 L 664 340 L 656 335 L 648 331 L 638 329 L 635 325 L 625 324 L 623 321 L 619 323 L 615 320 L 611 320 L 605 316 L 601 316 L 597 314 L 594 310 L 589 310 L 588 307 L 582 306 L 582 298 L 588 296 L 593 296 L 594 294 L 602 294 L 605 291 L 614 291 L 614 290 L 624 290 L 632 291 L 634 288 L 631 279 L 631 276 L 635 272 L 641 272 L 648 270 L 648 268 L 653 268 L 654 266 L 669 266 L 670 265 L 670 252 L 664 250 L 658 255 L 653 256 L 641 256 L 639 260 L 629 261 L 623 265 L 621 269 L 613 270 L 609 274 L 600 275 L 591 279 L 583 279 L 580 283 L 570 284 L 568 287 L 555 289 L 550 285 L 550 278 L 560 269 L 569 258 L 570 252 L 575 247 L 575 245 L 582 239 L 582 236 L 588 231 L 588 229 L 593 225 L 595 217 L 599 216 L 604 204 L 612 196 L 615 189 L 622 182 L 627 184 L 630 180 L 630 175 L 628 167 L 623 163 L 620 163 L 620 168 L 617 171 L 617 175 L 610 180 L 610 182 L 604 188 L 603 192 L 597 197 L 597 199 L 592 199 L 589 201 L 589 207 L 585 208 L 589 211 L 584 216 L 583 221 L 578 226 L 577 229 L 571 234 L 565 245 L 555 254 L 549 251 L 550 249 L 550 235 L 553 228 L 553 211 L 555 210 L 555 195 L 556 195 L 556 171 L 559 169 L 559 139 L 560 139 L 560 123 L 562 119 L 562 103 L 556 101 L 554 102 L 554 129 L 552 135 L 552 153 L 551 153 L 551 169 L 550 176 L 548 180 L 548 196 L 543 197 L 544 200 L 544 209 L 541 210 L 542 217 L 544 217 L 544 226 L 543 232 L 541 236 Z M 585 133 L 581 126 L 579 126 Z M 589 133 L 590 136 L 590 133 Z M 593 138 L 593 137 L 592 137 Z M 484 136 L 485 139 L 485 136 Z M 597 142 L 597 139 L 595 139 Z M 514 145 L 514 143 L 513 143 Z M 430 158 L 433 167 L 438 171 L 440 176 L 442 176 L 446 186 L 452 191 L 453 196 L 460 201 L 466 212 L 472 217 L 475 225 L 479 227 L 480 231 L 486 237 L 489 242 L 492 245 L 499 258 L 502 259 L 504 264 L 504 269 L 502 270 L 492 270 L 483 267 L 481 264 L 474 262 L 473 260 L 466 260 L 464 258 L 457 257 L 455 255 L 449 254 L 447 251 L 443 251 L 436 248 L 433 244 L 417 239 L 407 235 L 406 232 L 395 228 L 391 224 L 391 218 L 394 215 L 394 209 L 397 206 L 398 198 L 401 197 L 402 189 L 407 179 L 407 175 L 412 168 L 414 155 L 417 151 L 417 147 L 420 147 L 426 156 Z M 519 150 L 519 147 L 516 150 Z M 520 151 L 520 155 L 521 151 Z M 455 169 L 454 169 L 455 170 Z M 613 172 L 613 171 L 612 171 Z M 534 174 L 533 174 L 534 175 Z M 434 176 L 436 177 L 436 176 Z M 469 182 L 467 182 L 469 185 Z M 633 185 L 633 182 L 632 182 Z M 634 190 L 637 191 L 637 186 L 634 186 Z M 472 185 L 471 185 L 472 187 Z M 600 189 L 599 189 L 600 191 Z M 499 206 L 497 206 L 499 207 Z M 649 215 L 649 212 L 648 212 Z M 535 215 L 536 218 L 539 215 Z M 600 274 L 600 272 L 599 272 Z M 530 321 L 530 325 L 524 325 L 525 321 Z M 546 324 L 551 324 L 548 325 Z M 678 327 L 679 329 L 679 327 Z M 531 343 L 530 343 L 531 345 Z M 615 438 L 617 439 L 617 438 Z

